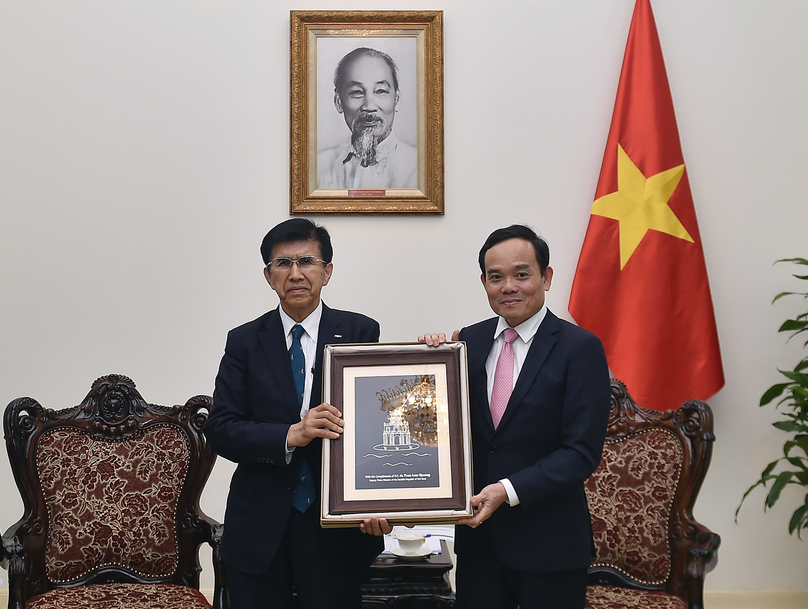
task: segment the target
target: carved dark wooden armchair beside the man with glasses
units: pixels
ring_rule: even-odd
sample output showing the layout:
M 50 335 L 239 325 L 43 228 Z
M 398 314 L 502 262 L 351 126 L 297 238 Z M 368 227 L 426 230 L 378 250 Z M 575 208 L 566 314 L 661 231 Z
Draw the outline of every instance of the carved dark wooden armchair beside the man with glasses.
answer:
M 125 376 L 96 380 L 74 408 L 8 405 L 4 435 L 24 515 L 3 535 L 9 608 L 202 609 L 198 551 L 213 548 L 225 609 L 221 525 L 199 509 L 215 455 L 212 400 L 147 404 Z

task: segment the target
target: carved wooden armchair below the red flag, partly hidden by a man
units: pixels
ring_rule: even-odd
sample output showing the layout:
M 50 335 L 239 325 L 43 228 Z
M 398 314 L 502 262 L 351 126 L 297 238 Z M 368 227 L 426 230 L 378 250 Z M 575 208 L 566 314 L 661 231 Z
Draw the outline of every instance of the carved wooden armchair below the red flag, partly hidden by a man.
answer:
M 703 609 L 721 538 L 693 504 L 714 440 L 704 402 L 647 410 L 612 379 L 603 458 L 586 483 L 597 548 L 587 609 Z

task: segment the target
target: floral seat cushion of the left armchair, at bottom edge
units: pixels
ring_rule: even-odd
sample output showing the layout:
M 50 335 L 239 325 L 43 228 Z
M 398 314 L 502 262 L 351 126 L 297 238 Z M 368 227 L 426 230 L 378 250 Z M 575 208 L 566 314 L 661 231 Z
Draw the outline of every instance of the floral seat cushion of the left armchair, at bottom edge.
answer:
M 28 600 L 28 609 L 210 609 L 195 588 L 174 584 L 95 584 L 58 588 Z

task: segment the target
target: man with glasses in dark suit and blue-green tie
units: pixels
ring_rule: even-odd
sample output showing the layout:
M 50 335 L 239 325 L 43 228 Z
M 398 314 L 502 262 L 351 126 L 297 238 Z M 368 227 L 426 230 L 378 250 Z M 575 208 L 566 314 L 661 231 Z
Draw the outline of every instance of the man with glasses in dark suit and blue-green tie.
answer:
M 376 321 L 322 303 L 332 254 L 328 232 L 309 220 L 270 230 L 261 256 L 280 306 L 227 337 L 205 435 L 238 464 L 221 546 L 232 609 L 291 608 L 293 590 L 300 609 L 359 609 L 379 535 L 392 528 L 320 527 L 322 439 L 344 425 L 320 403 L 323 347 L 379 340 Z

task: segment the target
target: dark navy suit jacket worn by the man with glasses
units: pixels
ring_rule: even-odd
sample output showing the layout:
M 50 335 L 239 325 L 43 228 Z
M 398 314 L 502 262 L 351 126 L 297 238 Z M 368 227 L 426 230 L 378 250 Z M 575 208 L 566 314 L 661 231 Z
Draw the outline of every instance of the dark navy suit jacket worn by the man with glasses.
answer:
M 323 349 L 327 344 L 378 342 L 373 319 L 323 305 L 311 406 L 322 399 Z M 289 427 L 300 421 L 292 368 L 278 309 L 231 330 L 216 377 L 205 436 L 214 451 L 238 464 L 230 483 L 221 555 L 244 573 L 264 573 L 283 536 L 297 472 L 306 459 L 319 497 L 322 442 L 295 449 L 286 463 Z M 319 511 L 319 499 L 310 509 Z M 379 537 L 359 529 L 323 531 L 336 546 L 334 561 L 370 564 L 383 550 Z M 335 564 L 335 568 L 338 565 Z

